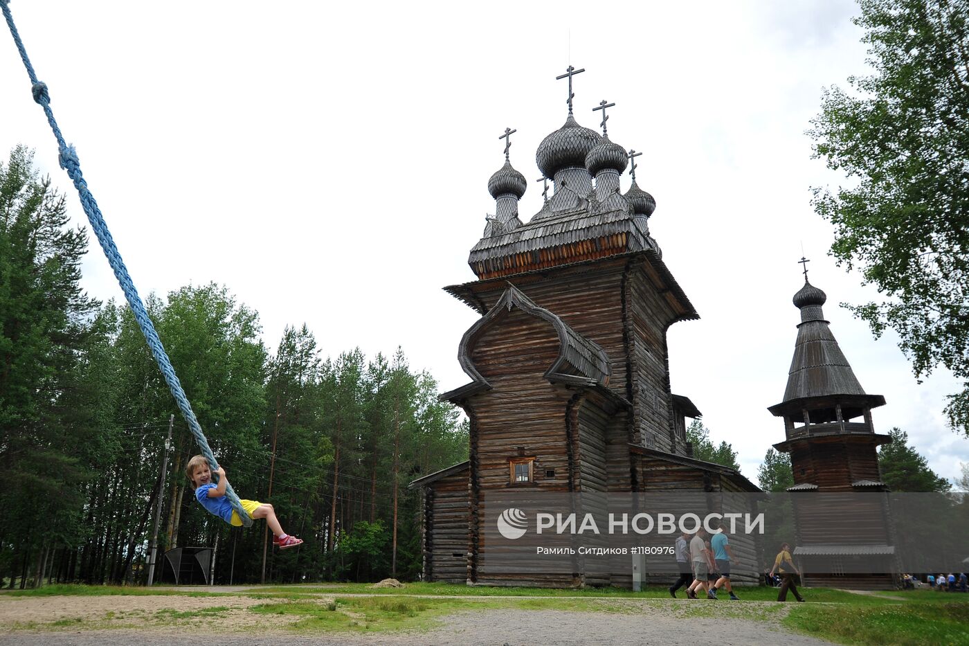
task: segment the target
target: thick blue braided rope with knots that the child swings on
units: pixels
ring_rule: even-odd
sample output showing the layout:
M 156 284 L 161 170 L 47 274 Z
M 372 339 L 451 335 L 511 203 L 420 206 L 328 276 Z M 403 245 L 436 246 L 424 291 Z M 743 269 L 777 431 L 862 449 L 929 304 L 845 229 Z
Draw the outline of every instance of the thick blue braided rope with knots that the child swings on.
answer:
M 141 327 L 141 334 L 144 335 L 144 339 L 148 342 L 151 354 L 155 357 L 158 368 L 161 369 L 162 374 L 165 376 L 165 382 L 169 384 L 172 397 L 174 397 L 175 403 L 178 404 L 178 409 L 188 423 L 188 427 L 192 431 L 192 435 L 195 436 L 199 448 L 202 449 L 205 459 L 213 470 L 213 477 L 217 481 L 218 476 L 214 474 L 214 471 L 219 468 L 219 465 L 215 461 L 215 456 L 212 455 L 212 449 L 209 448 L 208 441 L 203 435 L 199 420 L 196 419 L 195 412 L 192 411 L 192 406 L 185 397 L 185 391 L 182 390 L 181 383 L 179 383 L 178 377 L 175 375 L 172 362 L 169 361 L 169 355 L 166 354 L 165 347 L 162 345 L 161 339 L 158 339 L 158 333 L 155 332 L 155 326 L 152 325 L 151 319 L 148 318 L 148 312 L 145 311 L 144 305 L 141 303 L 141 298 L 135 289 L 135 284 L 132 282 L 131 276 L 128 275 L 128 269 L 125 267 L 124 261 L 121 260 L 121 254 L 118 253 L 117 247 L 111 239 L 108 225 L 105 223 L 105 218 L 98 208 L 98 203 L 94 201 L 94 196 L 87 189 L 87 182 L 80 173 L 78 153 L 73 145 L 67 145 L 64 142 L 60 128 L 57 127 L 57 121 L 54 120 L 54 113 L 50 110 L 50 95 L 47 93 L 47 84 L 37 80 L 34 67 L 30 64 L 30 59 L 27 57 L 27 50 L 23 48 L 23 43 L 20 41 L 20 34 L 16 31 L 14 16 L 10 13 L 9 0 L 0 0 L 0 9 L 3 10 L 3 15 L 7 19 L 10 33 L 14 37 L 17 50 L 20 52 L 20 59 L 23 61 L 24 67 L 27 68 L 27 76 L 30 77 L 31 93 L 34 95 L 34 101 L 44 108 L 44 113 L 47 114 L 47 123 L 50 124 L 50 129 L 53 130 L 54 137 L 57 139 L 57 145 L 60 151 L 60 166 L 67 171 L 68 177 L 74 180 L 74 186 L 78 189 L 80 204 L 84 208 L 84 213 L 87 214 L 87 220 L 91 223 L 91 228 L 94 229 L 94 233 L 98 237 L 98 242 L 101 242 L 101 248 L 104 250 L 105 256 L 108 257 L 108 262 L 114 271 L 114 276 L 118 279 L 118 284 L 121 285 L 121 289 L 124 291 L 128 305 L 135 314 L 135 319 L 138 321 L 139 327 Z M 238 496 L 233 491 L 232 485 L 229 483 L 226 484 L 226 496 L 232 502 L 233 508 L 238 513 L 239 518 L 242 519 L 242 523 L 246 527 L 251 526 L 252 518 L 242 508 Z

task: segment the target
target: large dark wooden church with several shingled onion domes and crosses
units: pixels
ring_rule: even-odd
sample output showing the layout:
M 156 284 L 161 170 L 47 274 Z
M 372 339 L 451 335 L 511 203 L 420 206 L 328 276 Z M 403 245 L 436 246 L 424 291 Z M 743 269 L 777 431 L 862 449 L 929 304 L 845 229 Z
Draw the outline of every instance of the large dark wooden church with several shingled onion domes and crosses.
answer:
M 635 159 L 578 124 L 570 67 L 565 123 L 539 145 L 553 183 L 542 210 L 522 218 L 527 182 L 505 164 L 488 180 L 495 199 L 468 264 L 476 280 L 445 289 L 481 318 L 458 361 L 470 382 L 441 396 L 470 421 L 470 460 L 412 483 L 423 491 L 423 576 L 469 585 L 631 587 L 631 567 L 603 575 L 522 575 L 489 568 L 482 527 L 488 492 L 758 492 L 732 468 L 691 457 L 685 418 L 700 411 L 673 395 L 667 331 L 699 318 L 649 233 L 656 208 L 637 184 Z M 622 192 L 630 166 L 631 185 Z M 672 544 L 672 537 L 670 540 Z M 756 582 L 753 539 L 737 535 L 735 580 Z M 667 576 L 669 578 L 669 576 Z

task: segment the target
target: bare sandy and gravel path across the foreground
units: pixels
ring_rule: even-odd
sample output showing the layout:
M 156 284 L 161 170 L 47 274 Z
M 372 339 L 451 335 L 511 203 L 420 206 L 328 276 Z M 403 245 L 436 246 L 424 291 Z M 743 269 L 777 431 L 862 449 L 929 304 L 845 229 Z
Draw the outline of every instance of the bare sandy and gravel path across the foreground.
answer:
M 323 601 L 324 598 L 321 598 Z M 268 646 L 270 644 L 360 644 L 375 646 L 437 646 L 442 644 L 488 646 L 584 646 L 671 644 L 696 646 L 713 641 L 720 646 L 783 643 L 793 646 L 828 642 L 792 634 L 766 622 L 733 618 L 674 617 L 670 605 L 643 604 L 631 613 L 572 612 L 560 610 L 461 611 L 444 618 L 444 626 L 426 632 L 329 634 L 297 636 L 281 631 L 283 618 L 267 618 L 246 608 L 264 599 L 247 597 L 0 597 L 0 645 L 17 646 Z M 172 613 L 202 608 L 231 608 L 219 618 L 180 619 L 172 628 Z M 110 630 L 72 629 L 72 621 L 109 618 Z M 61 621 L 55 630 L 49 623 Z M 34 630 L 22 630 L 39 622 Z M 47 625 L 47 626 L 45 626 Z M 12 630 L 15 626 L 19 630 Z M 120 628 L 127 626 L 129 628 Z M 220 630 L 228 629 L 228 630 Z

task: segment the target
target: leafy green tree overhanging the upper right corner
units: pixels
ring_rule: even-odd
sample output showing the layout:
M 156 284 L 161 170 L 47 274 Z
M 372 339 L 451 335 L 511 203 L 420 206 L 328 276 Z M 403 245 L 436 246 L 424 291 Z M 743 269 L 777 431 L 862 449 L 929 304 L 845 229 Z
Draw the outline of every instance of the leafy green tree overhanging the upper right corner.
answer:
M 838 264 L 886 297 L 846 307 L 876 338 L 893 329 L 917 377 L 942 365 L 963 380 L 946 413 L 969 434 L 969 2 L 859 4 L 874 74 L 826 90 L 809 131 L 852 182 L 813 189 L 814 208 Z

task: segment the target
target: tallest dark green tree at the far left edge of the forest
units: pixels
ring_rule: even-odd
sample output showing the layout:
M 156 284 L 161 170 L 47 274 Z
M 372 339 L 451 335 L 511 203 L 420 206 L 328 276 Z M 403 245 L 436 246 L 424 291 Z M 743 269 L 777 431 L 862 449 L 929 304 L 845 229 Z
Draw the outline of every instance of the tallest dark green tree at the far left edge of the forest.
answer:
M 78 450 L 90 432 L 82 362 L 97 304 L 79 287 L 87 247 L 23 146 L 0 163 L 0 565 L 40 583 L 82 533 Z

